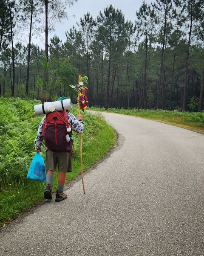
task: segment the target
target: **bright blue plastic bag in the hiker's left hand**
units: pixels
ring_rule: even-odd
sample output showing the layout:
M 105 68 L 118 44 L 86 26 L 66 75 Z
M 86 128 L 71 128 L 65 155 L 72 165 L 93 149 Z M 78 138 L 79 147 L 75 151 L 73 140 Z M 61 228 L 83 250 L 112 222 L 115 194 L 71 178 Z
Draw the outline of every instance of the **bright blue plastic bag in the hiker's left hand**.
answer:
M 31 166 L 28 170 L 27 179 L 46 181 L 44 159 L 41 157 L 40 153 L 36 153 L 33 157 Z

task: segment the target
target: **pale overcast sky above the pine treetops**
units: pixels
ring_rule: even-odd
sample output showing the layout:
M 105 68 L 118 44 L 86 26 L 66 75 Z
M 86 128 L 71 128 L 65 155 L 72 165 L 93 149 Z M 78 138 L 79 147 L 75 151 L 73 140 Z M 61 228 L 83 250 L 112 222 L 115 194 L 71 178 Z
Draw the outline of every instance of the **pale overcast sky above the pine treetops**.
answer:
M 139 10 L 139 7 L 142 5 L 143 0 L 78 0 L 77 3 L 74 3 L 73 6 L 67 8 L 67 14 L 70 17 L 68 20 L 64 20 L 63 23 L 55 24 L 55 31 L 49 35 L 49 38 L 52 38 L 54 35 L 57 35 L 62 42 L 65 41 L 65 31 L 69 30 L 73 25 L 76 25 L 76 22 L 80 20 L 81 17 L 84 17 L 84 14 L 90 12 L 91 15 L 96 18 L 99 14 L 99 11 L 103 11 L 105 7 L 112 4 L 116 9 L 119 8 L 122 10 L 125 15 L 125 20 L 136 20 L 136 11 Z M 145 0 L 146 3 L 151 3 L 153 0 Z M 72 17 L 72 16 L 75 17 Z M 32 39 L 32 43 L 38 44 L 40 47 L 44 48 L 44 35 L 43 41 L 40 38 Z M 48 38 L 48 40 L 49 40 Z

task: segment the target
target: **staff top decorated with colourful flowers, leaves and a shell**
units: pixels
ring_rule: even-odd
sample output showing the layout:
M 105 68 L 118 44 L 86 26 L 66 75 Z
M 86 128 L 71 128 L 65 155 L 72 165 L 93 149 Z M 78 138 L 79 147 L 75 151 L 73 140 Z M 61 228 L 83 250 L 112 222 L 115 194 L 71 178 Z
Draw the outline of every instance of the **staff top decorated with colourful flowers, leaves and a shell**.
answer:
M 70 85 L 71 88 L 79 92 L 79 98 L 77 98 L 77 102 L 80 105 L 82 111 L 87 108 L 88 98 L 85 95 L 85 91 L 88 90 L 86 85 L 88 84 L 88 77 L 81 77 L 81 81 L 77 85 Z

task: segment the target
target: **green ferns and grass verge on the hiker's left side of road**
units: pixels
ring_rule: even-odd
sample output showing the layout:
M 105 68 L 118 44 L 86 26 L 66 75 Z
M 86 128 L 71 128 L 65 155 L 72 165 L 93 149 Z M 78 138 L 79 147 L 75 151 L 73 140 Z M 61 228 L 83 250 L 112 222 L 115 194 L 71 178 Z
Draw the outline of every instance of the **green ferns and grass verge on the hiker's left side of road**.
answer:
M 43 198 L 45 183 L 27 180 L 26 175 L 35 155 L 34 139 L 42 116 L 35 116 L 37 100 L 0 97 L 0 226 L 20 215 Z M 71 110 L 77 115 L 77 107 Z M 102 116 L 83 113 L 85 132 L 82 134 L 83 169 L 102 159 L 116 143 L 116 132 Z M 68 183 L 81 171 L 79 137 L 74 133 L 73 172 Z M 45 159 L 44 147 L 42 156 Z M 57 189 L 57 172 L 53 191 Z

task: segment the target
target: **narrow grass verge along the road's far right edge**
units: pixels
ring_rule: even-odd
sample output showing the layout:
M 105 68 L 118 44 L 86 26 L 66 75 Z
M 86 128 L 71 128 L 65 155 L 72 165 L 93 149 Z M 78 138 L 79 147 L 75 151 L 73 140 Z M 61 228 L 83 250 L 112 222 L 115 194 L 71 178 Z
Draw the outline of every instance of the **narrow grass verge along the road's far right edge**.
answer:
M 166 124 L 179 126 L 192 131 L 204 134 L 204 113 L 180 112 L 167 110 L 137 110 L 137 109 L 116 109 L 116 108 L 90 108 L 93 111 L 113 112 L 130 116 L 138 116 Z

